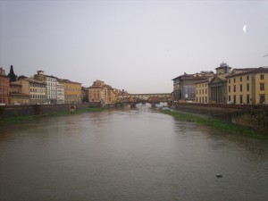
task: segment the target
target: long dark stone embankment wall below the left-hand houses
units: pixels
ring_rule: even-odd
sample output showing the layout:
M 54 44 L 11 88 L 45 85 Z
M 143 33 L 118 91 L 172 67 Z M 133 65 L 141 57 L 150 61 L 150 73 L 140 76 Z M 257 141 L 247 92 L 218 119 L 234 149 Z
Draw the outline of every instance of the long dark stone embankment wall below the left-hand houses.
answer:
M 78 111 L 88 107 L 100 107 L 100 103 L 63 105 L 1 105 L 0 119 L 18 116 L 48 114 L 54 112 Z

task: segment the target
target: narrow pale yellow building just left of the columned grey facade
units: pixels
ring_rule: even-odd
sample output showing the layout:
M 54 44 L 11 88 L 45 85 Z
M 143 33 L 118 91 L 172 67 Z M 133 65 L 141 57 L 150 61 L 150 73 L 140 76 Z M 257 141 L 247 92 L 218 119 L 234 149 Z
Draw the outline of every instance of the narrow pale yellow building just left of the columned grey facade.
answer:
M 208 103 L 208 82 L 209 80 L 202 80 L 196 83 L 196 103 Z

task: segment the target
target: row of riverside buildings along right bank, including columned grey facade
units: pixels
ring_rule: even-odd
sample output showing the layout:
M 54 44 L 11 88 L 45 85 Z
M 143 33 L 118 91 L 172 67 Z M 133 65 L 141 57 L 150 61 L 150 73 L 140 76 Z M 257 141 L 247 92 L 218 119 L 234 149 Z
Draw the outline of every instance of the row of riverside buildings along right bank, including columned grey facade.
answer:
M 180 75 L 173 79 L 173 98 L 201 104 L 268 103 L 268 67 L 232 69 L 221 63 L 213 71 Z

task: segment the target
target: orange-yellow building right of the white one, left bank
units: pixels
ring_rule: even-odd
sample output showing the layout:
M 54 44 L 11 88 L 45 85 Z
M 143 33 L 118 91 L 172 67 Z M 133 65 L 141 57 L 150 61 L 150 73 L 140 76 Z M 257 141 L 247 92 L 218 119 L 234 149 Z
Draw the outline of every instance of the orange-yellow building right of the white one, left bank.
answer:
M 82 102 L 82 86 L 79 82 L 70 80 L 61 80 L 59 83 L 64 85 L 64 101 L 65 104 L 79 104 Z

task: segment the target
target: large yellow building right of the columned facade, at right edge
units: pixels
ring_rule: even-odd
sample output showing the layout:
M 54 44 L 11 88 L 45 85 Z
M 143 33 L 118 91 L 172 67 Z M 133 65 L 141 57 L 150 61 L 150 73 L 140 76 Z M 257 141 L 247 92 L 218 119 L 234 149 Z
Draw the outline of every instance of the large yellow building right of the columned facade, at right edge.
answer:
M 242 69 L 235 71 L 227 79 L 229 103 L 266 104 L 268 103 L 268 68 Z

